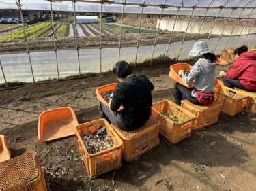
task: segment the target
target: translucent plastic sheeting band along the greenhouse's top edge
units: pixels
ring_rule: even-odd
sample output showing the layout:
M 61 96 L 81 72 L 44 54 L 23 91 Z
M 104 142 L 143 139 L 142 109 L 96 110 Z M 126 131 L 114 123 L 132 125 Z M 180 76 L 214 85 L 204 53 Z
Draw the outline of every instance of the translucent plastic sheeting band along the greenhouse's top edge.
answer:
M 46 0 L 23 0 L 20 1 L 23 10 L 51 10 L 51 6 L 49 1 Z M 128 0 L 126 1 L 124 7 L 125 14 L 140 14 L 141 5 L 144 0 Z M 212 2 L 212 3 L 211 3 Z M 124 1 L 111 1 L 111 3 L 104 3 L 102 6 L 102 12 L 104 13 L 122 13 L 122 7 Z M 177 9 L 180 8 L 179 15 L 189 16 L 195 6 L 195 11 L 193 16 L 203 16 L 206 8 L 209 6 L 210 10 L 206 16 L 216 16 L 219 11 L 219 7 L 226 7 L 221 10 L 220 17 L 229 17 L 231 10 L 233 7 L 244 8 L 244 14 L 242 14 L 241 18 L 246 17 L 248 12 L 250 12 L 250 8 L 254 8 L 256 6 L 256 1 L 254 0 L 146 0 L 143 10 L 143 14 L 160 14 L 162 10 L 162 5 L 164 5 L 163 15 L 173 15 L 177 12 Z M 2 0 L 0 2 L 1 9 L 6 10 L 17 10 L 18 7 L 16 5 L 16 1 L 14 0 Z M 100 12 L 100 1 L 76 1 L 76 12 Z M 63 0 L 63 1 L 53 1 L 53 11 L 63 11 L 63 12 L 73 12 L 74 7 L 72 1 Z M 239 10 L 234 10 L 231 17 L 236 18 L 238 16 Z M 241 11 L 241 10 L 240 10 Z M 250 18 L 256 18 L 256 13 L 251 14 Z

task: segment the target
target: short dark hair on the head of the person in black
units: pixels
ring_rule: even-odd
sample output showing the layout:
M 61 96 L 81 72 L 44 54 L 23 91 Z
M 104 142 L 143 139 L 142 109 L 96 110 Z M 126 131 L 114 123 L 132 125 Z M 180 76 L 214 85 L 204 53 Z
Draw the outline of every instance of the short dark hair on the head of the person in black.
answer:
M 113 67 L 113 73 L 119 78 L 132 74 L 132 67 L 126 61 L 120 61 Z

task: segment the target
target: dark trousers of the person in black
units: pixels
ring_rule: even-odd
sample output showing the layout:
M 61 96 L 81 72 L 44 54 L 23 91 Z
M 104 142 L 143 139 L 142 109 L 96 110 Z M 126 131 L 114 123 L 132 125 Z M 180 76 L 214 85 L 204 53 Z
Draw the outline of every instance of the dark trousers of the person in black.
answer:
M 98 109 L 100 111 L 101 117 L 106 119 L 109 123 L 114 124 L 118 128 L 129 131 L 129 128 L 126 128 L 120 119 L 120 114 L 118 112 L 113 112 L 109 108 L 109 106 L 104 105 L 103 103 L 99 103 Z

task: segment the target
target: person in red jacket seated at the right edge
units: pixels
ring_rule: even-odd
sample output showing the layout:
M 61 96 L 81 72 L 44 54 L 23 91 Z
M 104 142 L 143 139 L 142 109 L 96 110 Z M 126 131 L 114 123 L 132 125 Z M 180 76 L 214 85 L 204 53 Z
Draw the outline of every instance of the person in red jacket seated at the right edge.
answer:
M 249 92 L 256 91 L 256 53 L 248 52 L 247 46 L 236 48 L 233 52 L 236 61 L 225 72 L 221 71 L 224 85 L 229 88 L 239 88 Z

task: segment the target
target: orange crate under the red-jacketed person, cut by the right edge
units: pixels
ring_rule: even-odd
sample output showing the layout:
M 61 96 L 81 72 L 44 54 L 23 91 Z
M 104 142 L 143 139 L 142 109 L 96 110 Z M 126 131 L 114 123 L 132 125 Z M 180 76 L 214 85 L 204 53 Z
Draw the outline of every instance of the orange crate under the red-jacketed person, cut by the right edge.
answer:
M 256 114 L 256 92 L 246 92 L 244 90 L 238 90 L 238 92 L 244 96 L 248 96 L 244 105 L 244 112 Z

